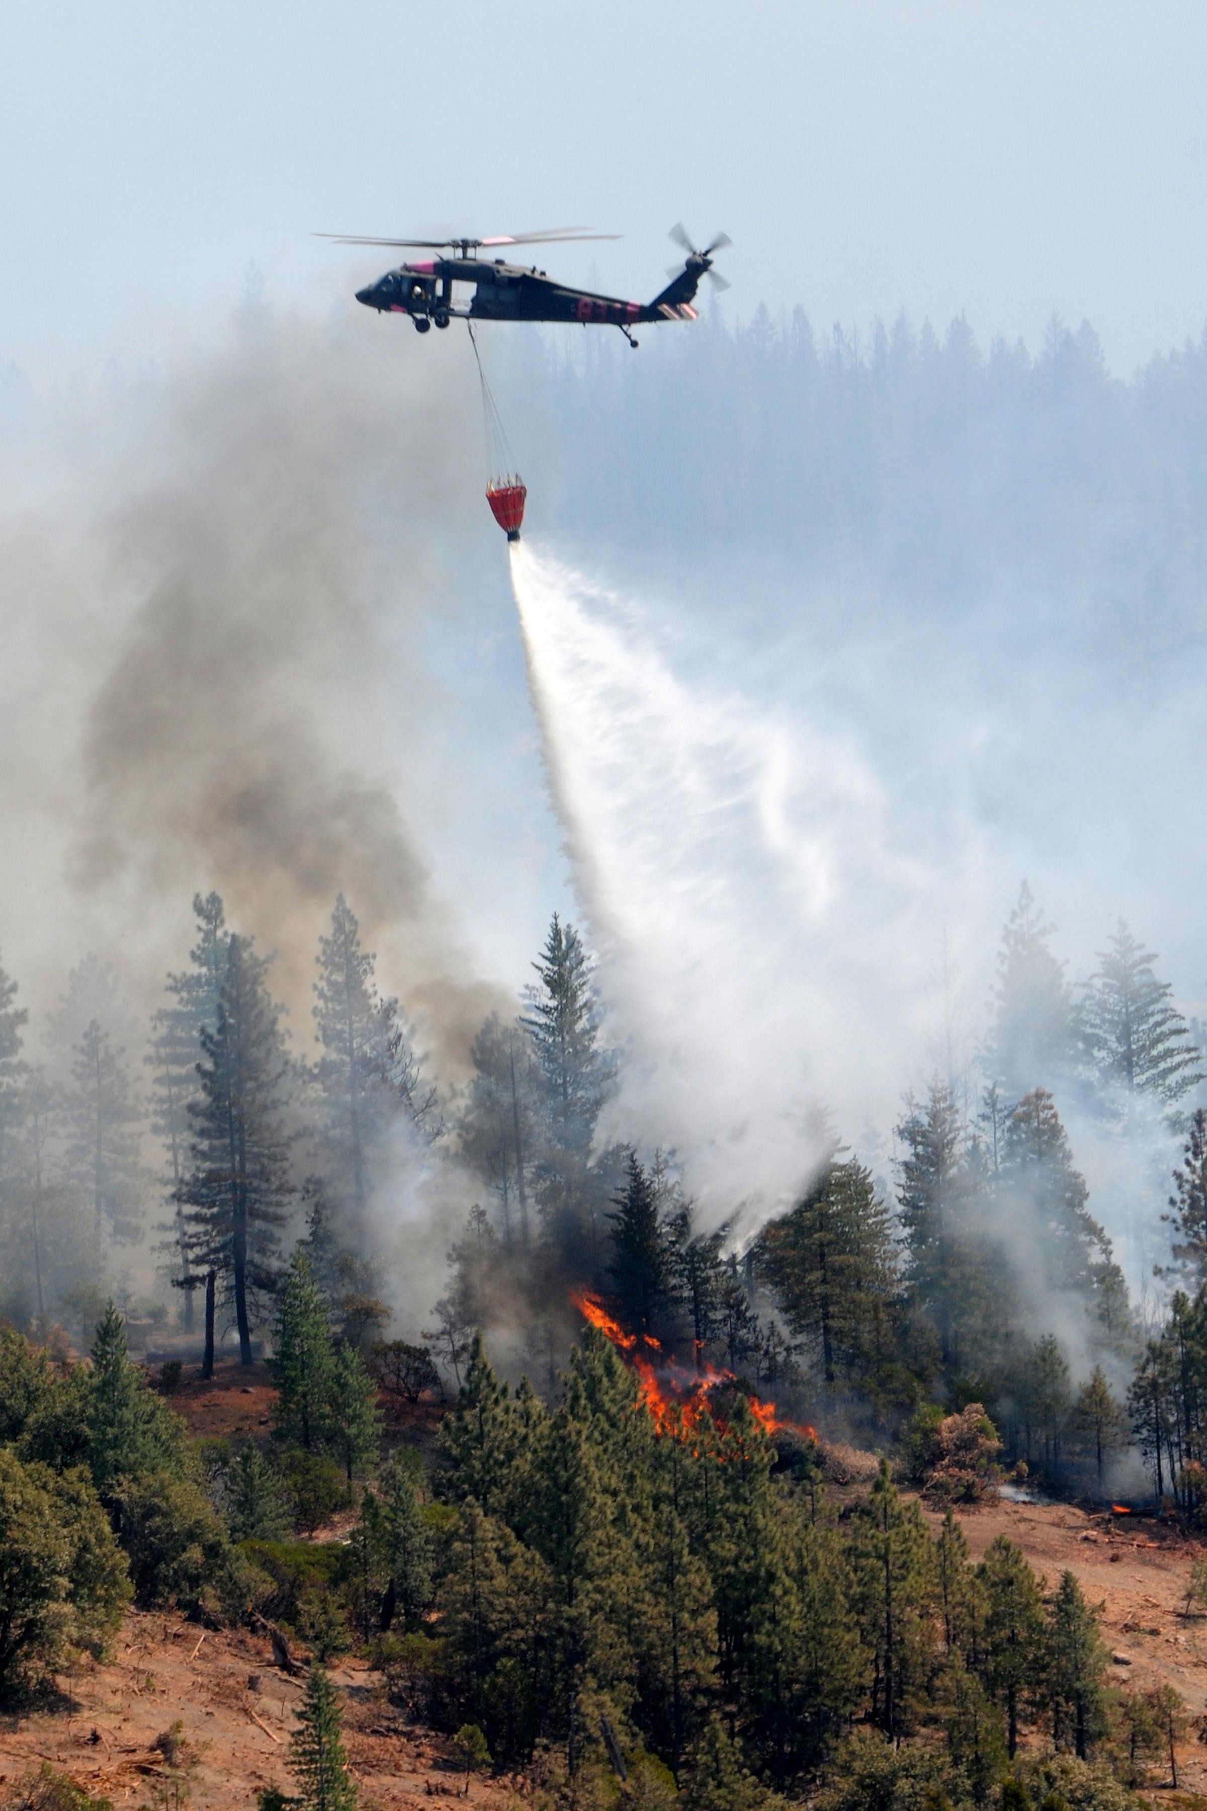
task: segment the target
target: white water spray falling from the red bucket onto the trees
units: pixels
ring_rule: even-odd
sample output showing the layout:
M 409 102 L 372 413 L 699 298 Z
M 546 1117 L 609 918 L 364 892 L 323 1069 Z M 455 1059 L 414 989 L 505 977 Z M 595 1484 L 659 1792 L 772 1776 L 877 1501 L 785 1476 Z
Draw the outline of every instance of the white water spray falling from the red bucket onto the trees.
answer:
M 702 1226 L 731 1222 L 740 1242 L 829 1150 L 809 1056 L 831 1014 L 809 936 L 840 904 L 843 811 L 865 820 L 874 788 L 840 752 L 820 764 L 740 699 L 684 685 L 632 607 L 525 543 L 508 552 L 606 1034 L 624 1049 L 601 1137 L 673 1148 Z

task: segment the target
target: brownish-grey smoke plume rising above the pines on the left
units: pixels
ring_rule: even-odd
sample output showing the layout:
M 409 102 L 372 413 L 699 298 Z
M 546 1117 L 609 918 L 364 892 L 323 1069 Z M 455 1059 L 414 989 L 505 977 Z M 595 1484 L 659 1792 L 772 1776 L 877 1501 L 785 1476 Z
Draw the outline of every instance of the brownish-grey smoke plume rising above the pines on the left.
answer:
M 248 304 L 208 355 L 127 398 L 103 480 L 92 444 L 71 498 L 5 525 L 24 636 L 0 804 L 31 884 L 0 936 L 34 1003 L 81 944 L 152 1003 L 197 887 L 277 951 L 306 1041 L 337 891 L 440 1068 L 498 1003 L 400 808 L 438 708 L 427 618 L 456 599 L 442 498 L 478 491 L 478 422 L 461 362 L 402 357 L 371 326 Z

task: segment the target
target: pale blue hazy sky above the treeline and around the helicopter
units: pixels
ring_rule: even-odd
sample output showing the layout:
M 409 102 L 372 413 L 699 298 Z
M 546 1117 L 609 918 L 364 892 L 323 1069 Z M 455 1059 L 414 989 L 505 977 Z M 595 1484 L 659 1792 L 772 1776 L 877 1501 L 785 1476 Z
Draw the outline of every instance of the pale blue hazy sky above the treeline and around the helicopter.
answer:
M 586 223 L 648 297 L 682 217 L 738 313 L 1057 310 L 1129 373 L 1207 317 L 1205 63 L 1202 0 L 4 0 L 0 366 L 387 263 L 317 228 Z

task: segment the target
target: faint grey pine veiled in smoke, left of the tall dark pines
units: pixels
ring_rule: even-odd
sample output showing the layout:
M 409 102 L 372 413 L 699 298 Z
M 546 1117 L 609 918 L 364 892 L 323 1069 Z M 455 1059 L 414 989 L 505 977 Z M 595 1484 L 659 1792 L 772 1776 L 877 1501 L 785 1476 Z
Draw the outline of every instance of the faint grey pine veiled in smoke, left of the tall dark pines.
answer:
M 98 1251 L 105 1239 L 130 1242 L 141 1231 L 141 1110 L 125 1050 L 90 1020 L 74 1047 L 67 1096 L 65 1170 L 92 1213 Z

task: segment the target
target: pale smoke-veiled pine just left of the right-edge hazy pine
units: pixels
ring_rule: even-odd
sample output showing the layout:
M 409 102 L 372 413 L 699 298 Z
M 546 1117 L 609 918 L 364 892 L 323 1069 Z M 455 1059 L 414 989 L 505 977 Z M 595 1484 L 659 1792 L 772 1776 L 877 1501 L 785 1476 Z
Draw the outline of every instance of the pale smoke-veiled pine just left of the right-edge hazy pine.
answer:
M 997 956 L 995 1016 L 990 1034 L 990 1070 L 1010 1099 L 1037 1087 L 1053 1087 L 1073 1058 L 1073 996 L 1064 963 L 1048 944 L 1050 924 L 1026 880 L 1003 931 Z

